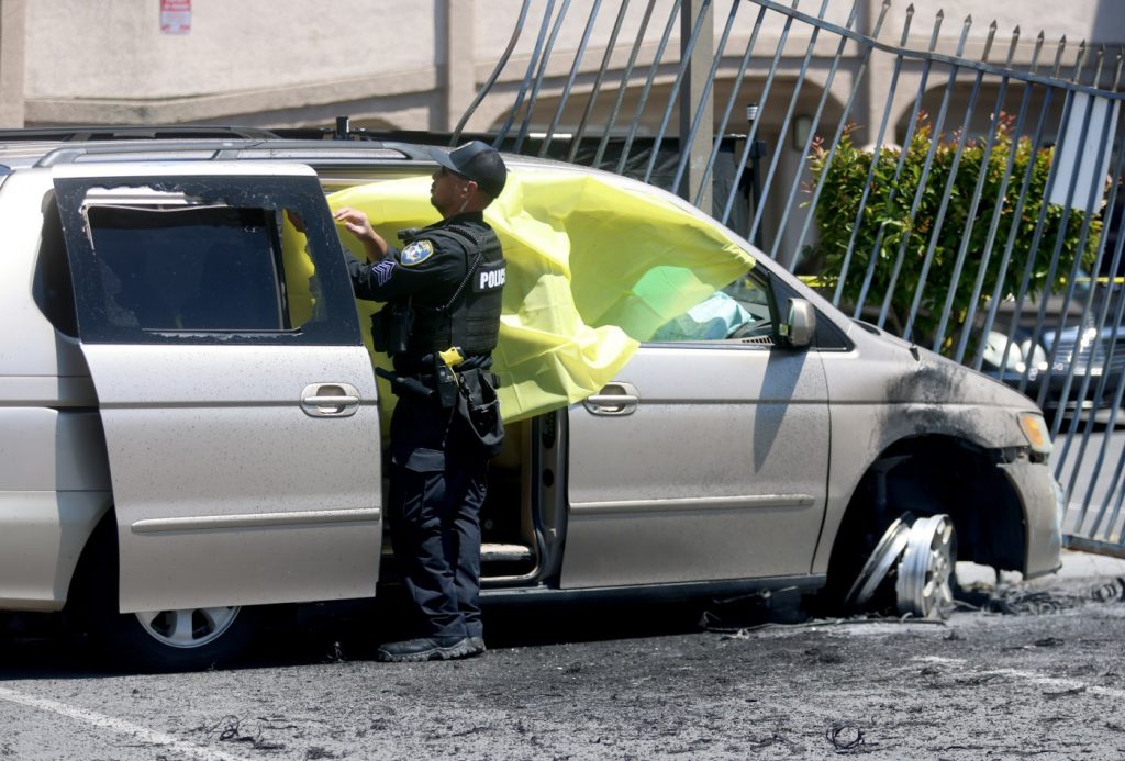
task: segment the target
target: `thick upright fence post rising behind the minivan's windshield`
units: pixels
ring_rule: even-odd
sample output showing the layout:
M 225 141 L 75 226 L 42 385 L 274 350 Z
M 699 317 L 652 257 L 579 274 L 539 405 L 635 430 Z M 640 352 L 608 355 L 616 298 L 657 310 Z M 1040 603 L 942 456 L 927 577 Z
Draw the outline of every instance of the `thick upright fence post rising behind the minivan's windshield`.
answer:
M 698 198 L 698 206 L 708 214 L 713 214 L 711 189 L 700 187 L 706 176 L 706 165 L 711 157 L 711 141 L 714 134 L 713 93 L 706 87 L 706 76 L 711 70 L 711 58 L 714 56 L 714 9 L 710 0 L 683 0 L 680 11 L 680 49 L 681 55 L 687 49 L 692 28 L 700 13 L 705 13 L 705 20 L 700 28 L 699 39 L 691 52 L 691 61 L 684 83 L 680 90 L 680 150 L 688 153 L 685 182 L 681 184 L 680 194 L 691 201 Z M 703 118 L 700 121 L 695 139 L 685 145 L 692 129 L 692 118 L 702 98 L 706 98 Z

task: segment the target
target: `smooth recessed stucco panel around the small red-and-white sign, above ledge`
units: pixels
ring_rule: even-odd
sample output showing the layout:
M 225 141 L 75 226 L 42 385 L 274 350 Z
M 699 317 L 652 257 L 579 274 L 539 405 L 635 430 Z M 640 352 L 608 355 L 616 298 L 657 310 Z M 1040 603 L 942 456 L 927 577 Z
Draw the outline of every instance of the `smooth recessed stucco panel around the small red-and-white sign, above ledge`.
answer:
M 434 6 L 395 0 L 194 0 L 162 34 L 159 0 L 27 3 L 28 98 L 177 98 L 434 64 Z

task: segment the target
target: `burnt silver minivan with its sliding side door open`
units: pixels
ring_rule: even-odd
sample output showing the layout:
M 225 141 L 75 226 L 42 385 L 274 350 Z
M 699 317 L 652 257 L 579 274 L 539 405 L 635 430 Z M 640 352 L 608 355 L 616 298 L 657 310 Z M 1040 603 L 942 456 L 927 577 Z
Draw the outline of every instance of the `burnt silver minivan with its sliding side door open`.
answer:
M 288 604 L 393 582 L 381 389 L 325 193 L 430 174 L 425 151 L 9 139 L 0 164 L 0 609 L 65 610 L 134 668 L 196 669 Z M 285 210 L 307 227 L 300 277 Z M 757 262 L 721 292 L 746 320 L 657 334 L 596 393 L 510 426 L 486 601 L 795 587 L 844 610 L 885 576 L 937 615 L 954 560 L 1054 571 L 1040 410 L 723 235 Z

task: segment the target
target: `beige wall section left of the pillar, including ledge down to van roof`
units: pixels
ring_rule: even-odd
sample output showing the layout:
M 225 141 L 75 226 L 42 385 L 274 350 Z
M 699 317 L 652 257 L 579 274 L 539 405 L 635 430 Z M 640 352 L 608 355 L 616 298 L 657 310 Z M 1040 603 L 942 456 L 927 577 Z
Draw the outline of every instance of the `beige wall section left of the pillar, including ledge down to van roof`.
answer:
M 429 126 L 441 3 L 194 0 L 188 34 L 163 34 L 159 0 L 35 0 L 26 7 L 27 121 L 320 123 L 338 105 Z M 326 117 L 331 121 L 331 116 Z

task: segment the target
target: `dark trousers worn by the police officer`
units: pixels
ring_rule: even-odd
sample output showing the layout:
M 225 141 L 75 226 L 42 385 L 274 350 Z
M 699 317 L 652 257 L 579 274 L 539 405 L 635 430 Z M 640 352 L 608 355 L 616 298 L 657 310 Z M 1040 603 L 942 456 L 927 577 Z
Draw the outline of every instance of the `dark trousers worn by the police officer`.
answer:
M 451 411 L 402 396 L 390 418 L 390 541 L 420 636 L 482 636 L 480 507 L 488 457 L 452 440 Z

